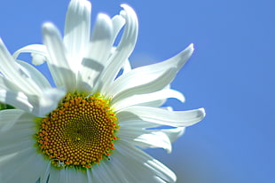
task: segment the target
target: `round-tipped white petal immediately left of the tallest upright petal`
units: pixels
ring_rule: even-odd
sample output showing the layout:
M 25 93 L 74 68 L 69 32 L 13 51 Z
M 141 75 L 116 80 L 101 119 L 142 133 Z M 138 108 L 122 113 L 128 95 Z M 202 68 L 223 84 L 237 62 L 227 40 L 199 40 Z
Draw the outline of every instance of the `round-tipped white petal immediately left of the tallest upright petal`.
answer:
M 59 30 L 51 23 L 43 24 L 43 41 L 50 54 L 50 59 L 47 63 L 55 84 L 57 86 L 66 86 L 68 91 L 74 91 L 75 72 L 77 70 L 70 68 Z

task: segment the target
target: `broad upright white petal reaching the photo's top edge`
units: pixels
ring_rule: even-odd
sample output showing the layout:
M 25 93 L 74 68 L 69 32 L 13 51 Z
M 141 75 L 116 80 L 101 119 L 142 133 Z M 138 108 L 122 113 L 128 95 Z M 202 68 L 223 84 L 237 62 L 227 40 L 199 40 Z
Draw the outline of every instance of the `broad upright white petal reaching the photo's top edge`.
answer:
M 90 41 L 90 9 L 90 2 L 86 0 L 71 1 L 68 6 L 64 44 L 73 68 L 80 65 Z

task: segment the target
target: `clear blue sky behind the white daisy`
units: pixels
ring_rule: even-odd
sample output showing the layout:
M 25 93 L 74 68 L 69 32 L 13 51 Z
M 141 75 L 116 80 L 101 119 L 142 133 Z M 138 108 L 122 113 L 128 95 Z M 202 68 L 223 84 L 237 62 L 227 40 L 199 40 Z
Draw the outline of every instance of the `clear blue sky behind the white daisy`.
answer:
M 69 0 L 4 1 L 0 36 L 10 52 L 42 42 L 41 26 L 60 30 Z M 275 163 L 275 2 L 273 0 L 93 0 L 114 16 L 120 4 L 138 14 L 134 67 L 169 59 L 193 43 L 195 52 L 172 87 L 186 102 L 176 110 L 205 107 L 206 118 L 187 129 L 167 155 L 146 150 L 177 173 L 179 183 L 270 183 Z M 28 55 L 22 59 L 30 60 Z M 47 71 L 43 69 L 47 75 Z

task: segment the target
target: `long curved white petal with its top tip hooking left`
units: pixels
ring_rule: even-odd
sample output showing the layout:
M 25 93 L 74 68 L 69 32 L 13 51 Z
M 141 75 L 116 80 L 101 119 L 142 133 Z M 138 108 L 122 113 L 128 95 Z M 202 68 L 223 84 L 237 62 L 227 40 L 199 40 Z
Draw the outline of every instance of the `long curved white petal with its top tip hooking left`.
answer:
M 122 40 L 115 49 L 114 54 L 111 55 L 108 62 L 108 67 L 104 70 L 100 77 L 100 82 L 97 86 L 97 91 L 107 91 L 107 87 L 113 83 L 115 76 L 124 65 L 124 62 L 129 58 L 133 51 L 138 37 L 138 18 L 136 13 L 130 8 L 130 6 L 123 4 L 122 16 L 126 20 L 126 27 L 122 34 Z

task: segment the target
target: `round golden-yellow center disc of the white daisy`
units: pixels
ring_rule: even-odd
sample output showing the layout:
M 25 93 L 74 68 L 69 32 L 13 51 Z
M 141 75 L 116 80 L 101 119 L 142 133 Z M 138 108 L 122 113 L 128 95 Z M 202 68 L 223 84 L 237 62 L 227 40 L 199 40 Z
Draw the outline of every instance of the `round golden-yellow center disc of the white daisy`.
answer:
M 40 151 L 59 168 L 90 168 L 114 150 L 118 123 L 109 99 L 68 93 L 59 107 L 39 120 Z

